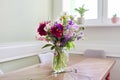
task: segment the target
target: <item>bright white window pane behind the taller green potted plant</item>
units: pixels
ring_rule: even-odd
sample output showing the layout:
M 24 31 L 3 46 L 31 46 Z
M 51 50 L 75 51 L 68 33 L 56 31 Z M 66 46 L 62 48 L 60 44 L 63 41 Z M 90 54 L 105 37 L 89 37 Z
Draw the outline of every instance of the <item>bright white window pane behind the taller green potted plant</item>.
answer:
M 87 11 L 85 13 L 85 18 L 86 19 L 97 19 L 97 0 L 92 0 L 94 3 L 90 4 L 91 1 L 90 0 L 71 0 L 70 1 L 70 13 L 76 16 L 79 16 L 79 13 L 75 11 L 75 8 L 79 8 L 82 5 L 84 5 L 84 7 L 86 9 L 89 9 L 89 11 Z M 68 9 L 69 10 L 69 9 Z

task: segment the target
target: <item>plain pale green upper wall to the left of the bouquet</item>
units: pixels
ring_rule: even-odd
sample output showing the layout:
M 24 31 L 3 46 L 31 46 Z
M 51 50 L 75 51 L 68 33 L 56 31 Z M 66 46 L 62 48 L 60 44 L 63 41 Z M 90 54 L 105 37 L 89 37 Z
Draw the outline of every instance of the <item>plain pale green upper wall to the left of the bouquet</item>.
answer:
M 52 0 L 0 0 L 0 43 L 35 40 L 40 21 L 52 19 Z

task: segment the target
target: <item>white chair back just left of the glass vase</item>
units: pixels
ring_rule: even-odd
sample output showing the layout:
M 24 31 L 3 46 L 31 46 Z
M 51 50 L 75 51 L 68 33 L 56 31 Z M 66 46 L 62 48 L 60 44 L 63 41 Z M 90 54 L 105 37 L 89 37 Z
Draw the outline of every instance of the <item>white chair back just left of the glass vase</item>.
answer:
M 47 53 L 38 54 L 38 56 L 41 64 L 48 64 L 48 63 L 52 63 L 54 55 L 52 52 L 47 52 Z

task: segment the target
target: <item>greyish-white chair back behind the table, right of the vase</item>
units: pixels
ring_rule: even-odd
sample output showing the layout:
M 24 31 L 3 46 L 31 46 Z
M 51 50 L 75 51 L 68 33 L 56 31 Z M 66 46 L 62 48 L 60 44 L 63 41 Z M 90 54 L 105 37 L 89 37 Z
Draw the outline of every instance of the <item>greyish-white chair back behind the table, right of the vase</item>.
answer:
M 106 58 L 104 50 L 87 49 L 83 55 L 86 57 Z

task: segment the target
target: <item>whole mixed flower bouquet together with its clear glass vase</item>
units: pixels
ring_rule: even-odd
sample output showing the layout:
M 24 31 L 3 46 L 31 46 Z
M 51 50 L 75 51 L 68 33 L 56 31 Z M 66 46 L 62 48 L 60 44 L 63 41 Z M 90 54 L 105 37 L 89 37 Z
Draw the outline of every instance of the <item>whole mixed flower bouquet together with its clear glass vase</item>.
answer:
M 42 48 L 51 47 L 55 50 L 53 58 L 53 70 L 62 72 L 66 67 L 66 54 L 64 50 L 74 48 L 74 41 L 82 39 L 84 27 L 76 24 L 72 15 L 66 13 L 60 16 L 58 21 L 44 21 L 39 24 L 37 32 L 38 40 L 47 41 Z

